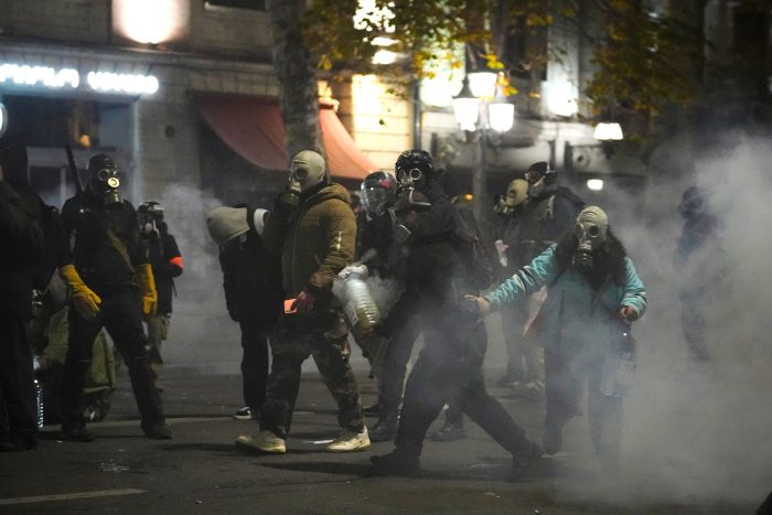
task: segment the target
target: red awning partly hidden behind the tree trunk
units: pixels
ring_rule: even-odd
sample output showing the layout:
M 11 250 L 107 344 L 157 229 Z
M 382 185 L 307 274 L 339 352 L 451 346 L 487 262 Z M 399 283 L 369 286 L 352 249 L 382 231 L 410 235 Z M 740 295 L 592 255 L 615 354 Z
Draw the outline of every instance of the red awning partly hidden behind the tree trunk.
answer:
M 210 127 L 234 152 L 259 168 L 288 169 L 285 127 L 277 98 L 219 93 L 196 93 L 193 98 Z M 335 178 L 362 180 L 377 170 L 356 147 L 332 105 L 321 103 L 319 107 L 330 173 Z

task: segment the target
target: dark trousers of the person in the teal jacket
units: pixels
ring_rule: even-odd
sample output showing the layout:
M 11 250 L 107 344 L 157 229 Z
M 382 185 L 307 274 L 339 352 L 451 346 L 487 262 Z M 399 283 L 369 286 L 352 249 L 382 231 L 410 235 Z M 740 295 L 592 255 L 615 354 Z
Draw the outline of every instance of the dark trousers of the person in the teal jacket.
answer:
M 610 397 L 600 390 L 602 356 L 583 361 L 560 354 L 545 353 L 547 417 L 545 426 L 561 430 L 572 417 L 580 415 L 579 401 L 587 380 L 587 411 L 592 446 L 601 463 L 619 466 L 622 441 L 622 397 Z

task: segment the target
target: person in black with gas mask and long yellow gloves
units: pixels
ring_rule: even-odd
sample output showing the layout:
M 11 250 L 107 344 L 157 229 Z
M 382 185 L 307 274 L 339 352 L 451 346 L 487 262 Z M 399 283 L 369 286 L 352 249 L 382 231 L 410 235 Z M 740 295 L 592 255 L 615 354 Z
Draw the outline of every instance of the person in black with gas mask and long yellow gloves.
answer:
M 161 397 L 150 369 L 142 328 L 156 313 L 158 294 L 148 249 L 139 238 L 131 203 L 119 190 L 115 161 L 96 154 L 88 161 L 88 184 L 62 210 L 69 240 L 60 275 L 69 287 L 69 345 L 62 377 L 62 437 L 86 442 L 94 437 L 83 418 L 83 383 L 94 339 L 104 326 L 129 369 L 147 438 L 170 439 Z

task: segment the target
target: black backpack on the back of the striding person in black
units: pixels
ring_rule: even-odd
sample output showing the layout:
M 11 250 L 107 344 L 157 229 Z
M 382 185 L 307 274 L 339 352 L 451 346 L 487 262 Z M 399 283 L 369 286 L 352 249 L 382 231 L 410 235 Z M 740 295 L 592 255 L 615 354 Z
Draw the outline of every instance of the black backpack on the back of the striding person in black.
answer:
M 496 265 L 491 246 L 483 237 L 471 210 L 453 206 L 453 213 L 455 218 L 453 244 L 459 249 L 474 286 L 485 290 L 496 278 Z

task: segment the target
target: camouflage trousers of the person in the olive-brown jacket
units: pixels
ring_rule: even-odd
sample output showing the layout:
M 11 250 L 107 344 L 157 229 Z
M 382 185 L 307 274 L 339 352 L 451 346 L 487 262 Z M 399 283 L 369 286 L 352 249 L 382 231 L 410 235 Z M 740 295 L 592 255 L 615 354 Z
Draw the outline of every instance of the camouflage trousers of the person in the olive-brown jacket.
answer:
M 282 321 L 271 342 L 274 362 L 268 391 L 262 404 L 260 430 L 287 438 L 298 399 L 303 362 L 312 356 L 332 396 L 337 403 L 337 422 L 342 428 L 362 432 L 365 428 L 360 388 L 351 369 L 349 330 L 340 313 L 326 313 L 314 322 Z M 299 315 L 292 315 L 299 316 Z

